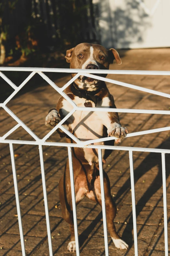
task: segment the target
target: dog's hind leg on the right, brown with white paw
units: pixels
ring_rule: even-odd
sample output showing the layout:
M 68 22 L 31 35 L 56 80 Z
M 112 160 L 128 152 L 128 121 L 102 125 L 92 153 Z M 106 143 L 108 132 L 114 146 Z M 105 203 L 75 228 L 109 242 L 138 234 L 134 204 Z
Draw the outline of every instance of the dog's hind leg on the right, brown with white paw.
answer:
M 111 235 L 111 238 L 113 240 L 113 243 L 117 248 L 120 249 L 128 249 L 128 245 L 120 238 L 118 235 L 114 219 L 116 217 L 116 204 L 113 201 L 113 198 L 110 193 L 110 182 L 107 174 L 104 172 L 104 188 L 105 188 L 105 204 L 106 204 L 106 219 L 107 219 L 107 228 L 109 230 L 109 233 Z M 100 176 L 98 176 L 97 179 L 94 181 L 94 187 L 93 190 L 86 194 L 86 196 L 99 203 L 100 206 L 102 206 L 102 200 L 101 200 L 101 189 L 100 189 Z

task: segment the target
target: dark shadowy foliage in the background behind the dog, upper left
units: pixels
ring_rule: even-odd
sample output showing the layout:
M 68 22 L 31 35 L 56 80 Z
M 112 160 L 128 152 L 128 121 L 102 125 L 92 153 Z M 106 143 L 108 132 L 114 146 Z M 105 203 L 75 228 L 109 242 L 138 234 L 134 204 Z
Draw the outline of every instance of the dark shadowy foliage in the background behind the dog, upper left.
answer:
M 1 1 L 0 46 L 8 64 L 37 51 L 61 51 L 95 41 L 92 0 Z

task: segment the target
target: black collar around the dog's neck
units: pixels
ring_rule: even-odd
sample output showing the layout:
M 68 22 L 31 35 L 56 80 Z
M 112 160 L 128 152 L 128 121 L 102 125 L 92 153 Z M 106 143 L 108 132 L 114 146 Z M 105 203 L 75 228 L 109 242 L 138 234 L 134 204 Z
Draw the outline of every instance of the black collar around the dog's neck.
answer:
M 97 100 L 99 98 L 98 96 L 96 96 L 96 94 L 98 94 L 101 90 L 102 90 L 101 88 L 97 89 L 96 91 L 85 91 L 80 89 L 78 90 L 76 89 L 73 83 L 71 84 L 71 91 L 75 96 L 93 101 L 95 104 L 95 107 L 97 106 Z

